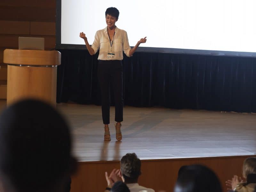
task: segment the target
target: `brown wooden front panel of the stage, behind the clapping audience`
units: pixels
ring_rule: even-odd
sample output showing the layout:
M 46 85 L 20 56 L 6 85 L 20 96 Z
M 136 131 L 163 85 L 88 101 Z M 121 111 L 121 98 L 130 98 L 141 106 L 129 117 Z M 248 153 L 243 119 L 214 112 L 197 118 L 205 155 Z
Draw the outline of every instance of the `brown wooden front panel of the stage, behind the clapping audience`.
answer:
M 242 165 L 247 157 L 249 156 L 142 160 L 139 183 L 156 192 L 172 192 L 182 165 L 203 164 L 218 175 L 225 192 L 226 180 L 231 179 L 234 174 L 242 177 Z M 119 161 L 79 162 L 78 172 L 72 177 L 71 192 L 104 191 L 107 186 L 105 172 L 110 173 L 114 168 L 120 168 Z

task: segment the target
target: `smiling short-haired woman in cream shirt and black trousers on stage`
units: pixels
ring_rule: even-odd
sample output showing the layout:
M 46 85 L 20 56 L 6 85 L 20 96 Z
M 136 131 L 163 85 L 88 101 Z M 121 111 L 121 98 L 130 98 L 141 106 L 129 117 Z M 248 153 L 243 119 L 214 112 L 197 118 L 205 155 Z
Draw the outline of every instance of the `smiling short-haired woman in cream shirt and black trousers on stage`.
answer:
M 110 141 L 109 132 L 109 110 L 110 110 L 110 80 L 113 84 L 115 96 L 115 124 L 116 140 L 122 140 L 121 122 L 123 121 L 123 51 L 131 57 L 141 43 L 147 41 L 146 37 L 131 49 L 126 31 L 116 27 L 119 11 L 115 7 L 109 7 L 106 12 L 107 27 L 96 32 L 92 46 L 89 45 L 87 37 L 83 32 L 80 37 L 84 39 L 90 55 L 94 55 L 100 48 L 98 63 L 98 79 L 101 90 L 102 119 L 105 125 L 104 140 Z

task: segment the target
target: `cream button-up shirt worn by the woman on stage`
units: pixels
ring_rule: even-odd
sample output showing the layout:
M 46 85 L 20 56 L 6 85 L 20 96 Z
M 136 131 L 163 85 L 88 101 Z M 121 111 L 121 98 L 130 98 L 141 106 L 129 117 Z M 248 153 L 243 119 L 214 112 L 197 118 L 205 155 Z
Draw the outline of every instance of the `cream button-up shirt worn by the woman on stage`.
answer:
M 131 47 L 128 42 L 128 36 L 126 31 L 116 27 L 115 36 L 113 38 L 112 48 L 110 46 L 110 41 L 108 37 L 107 27 L 101 30 L 98 30 L 95 34 L 95 39 L 92 44 L 92 49 L 94 53 L 100 48 L 100 53 L 98 60 L 123 60 L 123 51 L 130 57 L 129 52 Z M 114 53 L 114 59 L 108 58 L 108 53 Z

